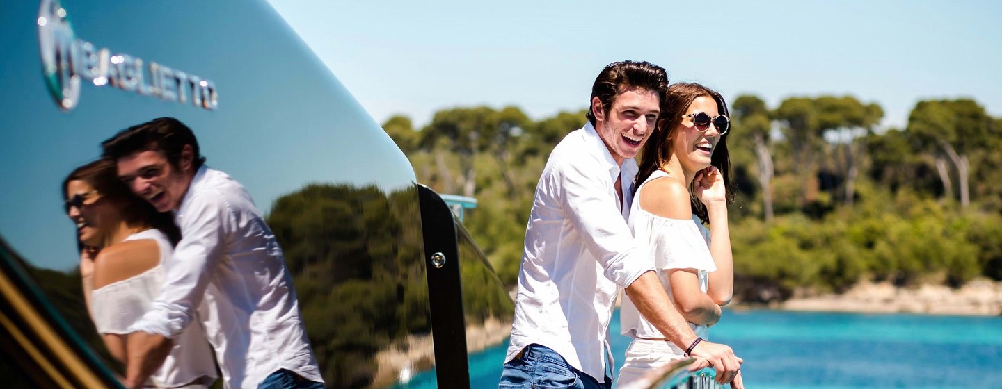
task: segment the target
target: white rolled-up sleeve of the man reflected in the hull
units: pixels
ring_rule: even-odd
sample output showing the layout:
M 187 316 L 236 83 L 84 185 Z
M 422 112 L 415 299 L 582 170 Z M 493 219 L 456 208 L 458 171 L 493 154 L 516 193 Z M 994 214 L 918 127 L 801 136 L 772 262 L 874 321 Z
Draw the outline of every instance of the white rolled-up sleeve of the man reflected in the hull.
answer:
M 165 277 L 159 297 L 129 331 L 173 338 L 191 323 L 225 245 L 230 210 L 220 197 L 192 196 L 178 214 L 181 240 L 163 263 Z

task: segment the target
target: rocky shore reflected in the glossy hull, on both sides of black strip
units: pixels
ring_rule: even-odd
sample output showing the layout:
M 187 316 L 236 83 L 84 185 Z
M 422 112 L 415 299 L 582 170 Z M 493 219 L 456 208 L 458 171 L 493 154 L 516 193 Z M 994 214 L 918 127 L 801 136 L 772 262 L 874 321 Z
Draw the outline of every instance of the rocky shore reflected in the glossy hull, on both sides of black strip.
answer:
M 496 345 L 511 335 L 511 319 L 488 318 L 481 324 L 466 326 L 466 352 L 472 354 Z M 377 370 L 373 387 L 389 387 L 408 381 L 414 374 L 435 365 L 435 347 L 431 335 L 409 336 L 407 341 L 376 354 Z

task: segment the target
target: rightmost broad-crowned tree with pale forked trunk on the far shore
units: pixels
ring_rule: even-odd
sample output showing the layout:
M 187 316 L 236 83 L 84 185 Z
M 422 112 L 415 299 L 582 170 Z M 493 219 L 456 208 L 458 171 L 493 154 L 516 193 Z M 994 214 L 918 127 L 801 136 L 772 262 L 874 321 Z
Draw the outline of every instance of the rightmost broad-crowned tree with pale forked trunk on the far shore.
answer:
M 971 201 L 968 154 L 984 147 L 992 127 L 992 118 L 983 107 L 974 100 L 959 99 L 920 101 L 908 118 L 906 130 L 921 139 L 927 148 L 939 151 L 937 169 L 950 196 L 953 193 L 944 160 L 948 158 L 952 162 L 957 169 L 960 205 L 967 208 Z

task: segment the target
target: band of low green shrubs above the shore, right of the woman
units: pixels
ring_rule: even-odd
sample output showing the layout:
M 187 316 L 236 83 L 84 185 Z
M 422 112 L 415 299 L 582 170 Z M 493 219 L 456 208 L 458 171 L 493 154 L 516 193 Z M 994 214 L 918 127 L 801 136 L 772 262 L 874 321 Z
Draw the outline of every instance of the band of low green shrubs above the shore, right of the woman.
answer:
M 889 193 L 882 193 L 889 195 Z M 843 209 L 815 222 L 797 214 L 768 225 L 743 219 L 731 228 L 735 273 L 797 289 L 842 291 L 863 277 L 899 285 L 945 282 L 959 286 L 977 276 L 998 279 L 1002 217 L 957 213 L 931 199 L 888 197 Z M 762 301 L 748 291 L 744 297 Z M 769 300 L 769 299 L 766 299 Z

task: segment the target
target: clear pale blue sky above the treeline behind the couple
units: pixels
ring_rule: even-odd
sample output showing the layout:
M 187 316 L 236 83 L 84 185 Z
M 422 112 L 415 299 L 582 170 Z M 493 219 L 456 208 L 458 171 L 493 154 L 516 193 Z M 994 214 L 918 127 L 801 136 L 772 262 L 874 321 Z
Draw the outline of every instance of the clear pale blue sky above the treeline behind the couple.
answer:
M 270 2 L 380 123 L 478 104 L 535 119 L 581 109 L 621 59 L 771 107 L 851 94 L 879 103 L 885 127 L 930 98 L 1002 116 L 1002 2 Z

